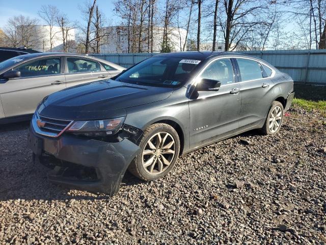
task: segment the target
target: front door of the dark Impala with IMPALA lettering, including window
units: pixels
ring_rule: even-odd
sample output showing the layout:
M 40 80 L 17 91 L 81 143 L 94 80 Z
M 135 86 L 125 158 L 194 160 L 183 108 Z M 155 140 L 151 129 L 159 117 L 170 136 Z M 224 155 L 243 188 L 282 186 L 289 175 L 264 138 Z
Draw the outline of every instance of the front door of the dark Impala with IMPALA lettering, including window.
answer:
M 221 82 L 218 91 L 198 91 L 189 99 L 191 148 L 225 137 L 238 128 L 241 107 L 239 83 L 235 83 L 231 59 L 218 58 L 208 64 L 196 78 Z

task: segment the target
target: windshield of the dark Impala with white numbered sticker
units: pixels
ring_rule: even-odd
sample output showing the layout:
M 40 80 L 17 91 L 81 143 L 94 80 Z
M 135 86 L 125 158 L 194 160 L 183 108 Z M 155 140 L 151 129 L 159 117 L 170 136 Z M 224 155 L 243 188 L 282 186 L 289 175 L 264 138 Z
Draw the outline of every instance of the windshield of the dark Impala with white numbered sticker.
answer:
M 175 87 L 183 84 L 201 60 L 152 57 L 133 66 L 115 79 L 125 83 Z

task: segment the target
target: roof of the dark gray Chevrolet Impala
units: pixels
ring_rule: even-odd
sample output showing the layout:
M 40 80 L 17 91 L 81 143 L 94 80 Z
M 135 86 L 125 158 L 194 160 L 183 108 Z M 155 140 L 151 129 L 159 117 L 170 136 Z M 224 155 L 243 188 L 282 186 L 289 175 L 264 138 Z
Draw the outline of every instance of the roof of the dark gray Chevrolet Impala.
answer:
M 248 57 L 252 59 L 258 59 L 257 57 L 253 57 L 250 55 L 244 55 L 240 53 L 235 52 L 212 52 L 212 51 L 185 51 L 185 52 L 173 52 L 173 53 L 165 53 L 165 54 L 158 54 L 156 56 L 162 56 L 162 57 L 179 57 L 179 58 L 185 58 L 185 59 L 201 59 L 205 60 L 210 57 L 216 57 L 216 56 L 240 56 L 240 57 Z

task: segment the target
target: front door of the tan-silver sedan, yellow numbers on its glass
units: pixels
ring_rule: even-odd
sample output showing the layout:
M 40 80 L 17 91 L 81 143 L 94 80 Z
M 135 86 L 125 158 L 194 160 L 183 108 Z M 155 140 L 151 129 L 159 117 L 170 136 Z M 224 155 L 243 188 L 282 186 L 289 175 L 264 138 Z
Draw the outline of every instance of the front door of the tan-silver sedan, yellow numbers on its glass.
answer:
M 6 117 L 33 114 L 45 96 L 66 88 L 59 56 L 34 59 L 13 69 L 20 71 L 20 78 L 0 80 Z

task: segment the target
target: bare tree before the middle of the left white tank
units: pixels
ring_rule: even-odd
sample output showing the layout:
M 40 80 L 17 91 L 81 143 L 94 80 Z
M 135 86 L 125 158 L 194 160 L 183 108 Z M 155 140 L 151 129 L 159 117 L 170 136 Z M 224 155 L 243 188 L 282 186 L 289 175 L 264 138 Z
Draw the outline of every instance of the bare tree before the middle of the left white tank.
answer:
M 55 35 L 57 34 L 53 27 L 57 21 L 58 14 L 58 8 L 53 5 L 42 5 L 38 11 L 40 18 L 49 26 L 50 51 L 52 51 Z

